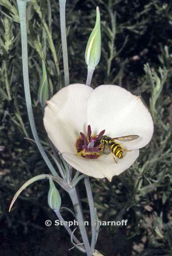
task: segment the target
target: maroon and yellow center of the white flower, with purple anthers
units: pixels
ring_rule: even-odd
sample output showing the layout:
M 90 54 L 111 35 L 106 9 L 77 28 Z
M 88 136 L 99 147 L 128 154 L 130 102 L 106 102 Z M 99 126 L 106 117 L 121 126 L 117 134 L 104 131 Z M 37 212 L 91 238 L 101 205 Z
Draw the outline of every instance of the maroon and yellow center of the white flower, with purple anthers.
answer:
M 76 141 L 77 155 L 86 159 L 96 159 L 100 156 L 100 137 L 104 134 L 105 130 L 101 131 L 96 136 L 91 136 L 92 131 L 88 125 L 87 135 L 80 132 L 80 138 Z

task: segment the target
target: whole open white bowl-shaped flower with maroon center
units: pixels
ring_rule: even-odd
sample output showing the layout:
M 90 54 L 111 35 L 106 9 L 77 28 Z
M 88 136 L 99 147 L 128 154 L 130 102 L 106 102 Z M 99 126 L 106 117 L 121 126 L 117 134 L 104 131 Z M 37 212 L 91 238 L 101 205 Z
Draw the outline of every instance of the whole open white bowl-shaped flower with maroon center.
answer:
M 73 168 L 109 181 L 133 164 L 139 148 L 147 145 L 153 134 L 152 117 L 140 97 L 116 85 L 100 85 L 94 90 L 85 84 L 62 88 L 47 101 L 44 126 Z M 114 140 L 123 157 L 112 143 L 108 144 L 108 152 L 100 144 L 102 136 L 132 135 L 137 138 Z

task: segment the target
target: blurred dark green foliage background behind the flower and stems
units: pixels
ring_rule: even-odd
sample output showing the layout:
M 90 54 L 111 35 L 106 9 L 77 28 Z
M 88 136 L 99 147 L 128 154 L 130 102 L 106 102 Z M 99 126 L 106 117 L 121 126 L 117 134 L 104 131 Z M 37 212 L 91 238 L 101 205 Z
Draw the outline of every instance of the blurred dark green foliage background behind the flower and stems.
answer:
M 84 52 L 95 24 L 97 5 L 101 14 L 102 54 L 92 86 L 117 84 L 141 95 L 155 124 L 151 143 L 140 150 L 131 168 L 113 177 L 111 183 L 91 179 L 100 220 L 128 219 L 127 227 L 102 227 L 97 249 L 105 256 L 170 256 L 172 1 L 67 0 L 71 83 L 86 82 Z M 46 57 L 42 43 L 45 27 Z M 56 56 L 49 46 L 51 39 Z M 64 86 L 58 0 L 28 3 L 28 56 L 36 127 L 44 147 L 50 150 L 37 93 L 42 59 L 53 93 Z M 56 219 L 47 204 L 47 181 L 34 183 L 22 192 L 8 213 L 17 189 L 32 176 L 48 173 L 36 145 L 25 137 L 32 138 L 32 134 L 24 99 L 17 6 L 15 0 L 0 0 L 0 256 L 80 255 L 76 249 L 68 252 L 72 244 L 64 228 L 45 227 L 45 220 Z M 82 182 L 80 195 L 89 220 Z M 60 195 L 62 205 L 72 207 L 68 195 L 62 190 Z M 63 216 L 71 220 L 68 212 L 63 212 Z

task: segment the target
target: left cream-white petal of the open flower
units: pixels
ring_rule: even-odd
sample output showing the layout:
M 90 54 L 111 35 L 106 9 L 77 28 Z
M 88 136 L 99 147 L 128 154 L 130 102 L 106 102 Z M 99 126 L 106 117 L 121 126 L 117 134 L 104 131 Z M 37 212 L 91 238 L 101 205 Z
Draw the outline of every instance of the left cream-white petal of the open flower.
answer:
M 80 132 L 86 133 L 87 100 L 92 88 L 70 84 L 57 92 L 44 112 L 44 126 L 52 143 L 60 152 L 76 153 Z

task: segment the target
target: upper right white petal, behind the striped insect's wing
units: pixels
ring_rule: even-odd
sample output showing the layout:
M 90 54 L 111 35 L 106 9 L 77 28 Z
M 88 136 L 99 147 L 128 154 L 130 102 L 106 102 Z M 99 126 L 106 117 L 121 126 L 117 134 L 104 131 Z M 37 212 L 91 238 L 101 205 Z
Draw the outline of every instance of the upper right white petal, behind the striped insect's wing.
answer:
M 96 134 L 105 129 L 112 138 L 140 136 L 122 143 L 125 149 L 144 147 L 153 134 L 152 116 L 140 97 L 116 85 L 100 85 L 92 91 L 88 98 L 88 124 Z

